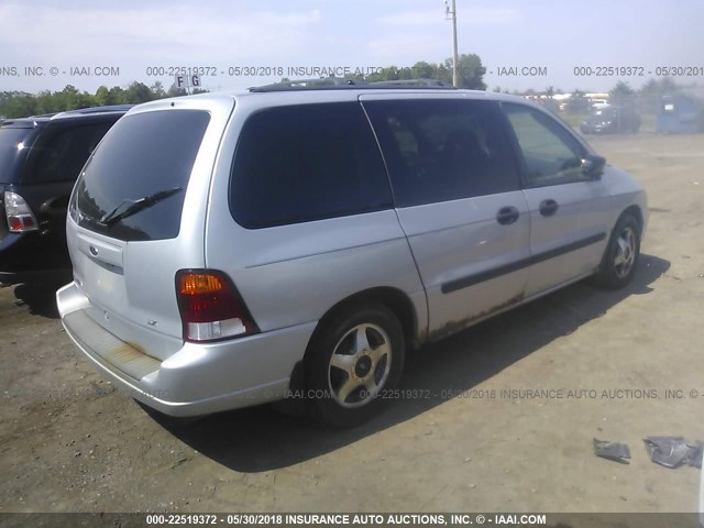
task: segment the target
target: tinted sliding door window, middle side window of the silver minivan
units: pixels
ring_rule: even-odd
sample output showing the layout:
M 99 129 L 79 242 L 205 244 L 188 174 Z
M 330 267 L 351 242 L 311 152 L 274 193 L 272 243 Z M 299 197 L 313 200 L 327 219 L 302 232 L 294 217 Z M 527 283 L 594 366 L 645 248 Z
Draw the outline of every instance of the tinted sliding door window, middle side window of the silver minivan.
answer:
M 398 207 L 519 188 L 503 116 L 491 101 L 365 101 Z

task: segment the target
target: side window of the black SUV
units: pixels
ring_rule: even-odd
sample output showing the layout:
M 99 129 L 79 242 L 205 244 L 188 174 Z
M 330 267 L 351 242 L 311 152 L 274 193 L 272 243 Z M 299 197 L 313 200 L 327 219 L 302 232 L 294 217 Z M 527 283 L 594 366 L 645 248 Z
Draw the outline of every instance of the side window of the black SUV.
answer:
M 112 124 L 112 121 L 75 127 L 50 124 L 28 156 L 24 177 L 36 183 L 75 180 Z

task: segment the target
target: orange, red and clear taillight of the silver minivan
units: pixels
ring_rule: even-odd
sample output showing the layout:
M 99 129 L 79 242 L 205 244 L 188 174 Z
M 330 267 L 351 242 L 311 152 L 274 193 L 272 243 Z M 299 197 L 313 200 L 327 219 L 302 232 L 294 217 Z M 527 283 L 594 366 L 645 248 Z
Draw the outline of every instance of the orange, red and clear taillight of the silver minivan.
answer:
M 176 296 L 186 341 L 212 341 L 258 332 L 240 294 L 221 272 L 179 271 Z

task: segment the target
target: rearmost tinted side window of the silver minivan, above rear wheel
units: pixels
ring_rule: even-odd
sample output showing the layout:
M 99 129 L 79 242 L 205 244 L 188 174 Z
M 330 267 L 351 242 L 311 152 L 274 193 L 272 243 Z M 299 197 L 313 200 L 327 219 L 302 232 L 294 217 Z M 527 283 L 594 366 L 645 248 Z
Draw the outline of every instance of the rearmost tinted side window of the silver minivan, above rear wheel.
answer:
M 358 102 L 298 105 L 248 119 L 230 183 L 234 219 L 250 229 L 392 207 L 384 163 Z

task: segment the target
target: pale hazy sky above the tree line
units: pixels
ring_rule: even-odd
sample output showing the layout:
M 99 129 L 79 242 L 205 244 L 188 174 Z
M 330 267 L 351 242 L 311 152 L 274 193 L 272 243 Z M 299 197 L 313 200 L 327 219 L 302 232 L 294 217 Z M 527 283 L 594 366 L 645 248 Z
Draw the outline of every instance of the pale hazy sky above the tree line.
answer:
M 704 68 L 704 1 L 457 0 L 460 53 L 476 53 L 490 88 L 638 88 L 659 66 Z M 440 63 L 451 56 L 442 0 L 0 0 L 0 91 L 95 92 L 150 77 L 150 66 L 213 66 L 210 90 L 280 76 L 234 76 L 235 66 L 370 68 Z M 24 75 L 25 67 L 44 75 Z M 72 76 L 70 67 L 113 66 L 114 77 Z M 548 75 L 499 76 L 499 67 Z M 644 77 L 575 77 L 575 66 L 642 66 Z M 55 67 L 57 75 L 51 74 Z M 13 69 L 16 75 L 12 75 Z M 64 74 L 65 72 L 65 74 Z M 651 74 L 648 74 L 651 72 Z M 260 72 L 257 72 L 260 73 Z M 704 72 L 676 79 L 704 85 Z

